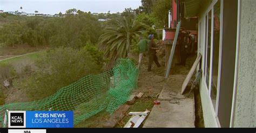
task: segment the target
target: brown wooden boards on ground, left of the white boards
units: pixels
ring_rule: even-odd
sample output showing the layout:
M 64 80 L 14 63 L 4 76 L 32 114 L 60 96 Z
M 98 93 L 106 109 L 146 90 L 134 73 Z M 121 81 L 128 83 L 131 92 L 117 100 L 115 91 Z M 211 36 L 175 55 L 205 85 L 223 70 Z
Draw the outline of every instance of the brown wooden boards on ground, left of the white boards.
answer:
M 130 108 L 129 105 L 120 106 L 114 114 L 110 116 L 110 119 L 103 125 L 104 128 L 113 128 L 120 120 L 123 119 L 127 110 Z

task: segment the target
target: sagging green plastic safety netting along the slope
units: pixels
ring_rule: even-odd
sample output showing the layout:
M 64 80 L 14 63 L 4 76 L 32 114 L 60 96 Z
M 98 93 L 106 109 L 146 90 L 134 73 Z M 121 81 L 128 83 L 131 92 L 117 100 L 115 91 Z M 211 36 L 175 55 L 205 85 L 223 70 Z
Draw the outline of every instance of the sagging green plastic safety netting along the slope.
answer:
M 113 69 L 79 79 L 48 98 L 0 106 L 1 124 L 4 125 L 6 109 L 72 110 L 74 125 L 103 110 L 112 114 L 129 99 L 131 90 L 137 87 L 138 73 L 139 70 L 131 60 L 119 59 Z

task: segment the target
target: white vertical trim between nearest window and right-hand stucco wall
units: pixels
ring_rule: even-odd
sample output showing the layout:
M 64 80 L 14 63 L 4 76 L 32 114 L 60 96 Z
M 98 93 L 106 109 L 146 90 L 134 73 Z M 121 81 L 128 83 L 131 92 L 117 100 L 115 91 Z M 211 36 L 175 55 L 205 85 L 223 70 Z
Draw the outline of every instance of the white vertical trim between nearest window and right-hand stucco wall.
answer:
M 233 126 L 234 126 L 235 100 L 236 100 L 236 96 L 237 96 L 237 77 L 238 77 L 238 63 L 239 63 L 238 58 L 239 58 L 239 45 L 240 45 L 240 19 L 241 19 L 241 0 L 238 0 L 237 48 L 235 51 L 234 88 L 233 88 L 230 128 L 233 128 Z

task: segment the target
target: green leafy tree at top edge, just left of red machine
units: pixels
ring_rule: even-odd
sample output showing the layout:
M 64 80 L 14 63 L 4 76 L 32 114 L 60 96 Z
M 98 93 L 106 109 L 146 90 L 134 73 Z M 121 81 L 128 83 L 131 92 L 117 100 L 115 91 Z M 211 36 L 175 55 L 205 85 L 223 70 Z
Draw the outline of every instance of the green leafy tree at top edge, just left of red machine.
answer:
M 152 14 L 159 20 L 158 27 L 163 28 L 168 25 L 169 10 L 171 9 L 171 0 L 158 0 L 153 5 Z

